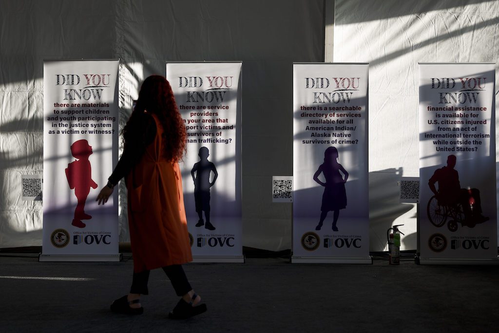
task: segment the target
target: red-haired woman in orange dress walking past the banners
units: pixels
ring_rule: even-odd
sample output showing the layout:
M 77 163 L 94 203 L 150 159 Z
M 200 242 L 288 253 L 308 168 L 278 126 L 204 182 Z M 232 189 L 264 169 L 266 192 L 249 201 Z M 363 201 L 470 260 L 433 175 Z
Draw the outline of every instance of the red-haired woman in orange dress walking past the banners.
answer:
M 113 302 L 113 312 L 143 313 L 139 297 L 149 294 L 149 271 L 156 268 L 165 271 L 182 297 L 170 318 L 186 319 L 206 311 L 181 266 L 192 261 L 177 163 L 184 154 L 185 138 L 170 83 L 163 76 L 149 76 L 123 129 L 123 154 L 96 199 L 105 204 L 125 177 L 134 272 L 130 293 Z

